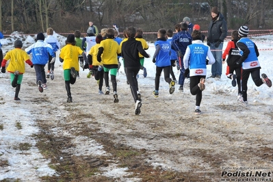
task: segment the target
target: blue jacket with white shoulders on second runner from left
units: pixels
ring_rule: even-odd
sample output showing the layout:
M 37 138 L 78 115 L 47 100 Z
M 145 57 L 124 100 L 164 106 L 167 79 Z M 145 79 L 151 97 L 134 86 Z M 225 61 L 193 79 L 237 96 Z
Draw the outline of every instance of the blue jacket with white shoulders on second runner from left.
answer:
M 47 44 L 43 40 L 37 40 L 35 44 L 27 47 L 25 51 L 28 54 L 32 53 L 33 64 L 45 65 L 49 61 L 49 55 L 55 57 L 51 44 Z

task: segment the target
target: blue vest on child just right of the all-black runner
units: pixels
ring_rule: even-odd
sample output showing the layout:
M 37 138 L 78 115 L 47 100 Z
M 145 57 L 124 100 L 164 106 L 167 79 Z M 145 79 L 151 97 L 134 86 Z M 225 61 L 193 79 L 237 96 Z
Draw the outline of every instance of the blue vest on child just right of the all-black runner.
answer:
M 160 51 L 155 58 L 158 67 L 170 66 L 170 43 L 166 40 L 155 41 L 155 47 L 160 46 Z

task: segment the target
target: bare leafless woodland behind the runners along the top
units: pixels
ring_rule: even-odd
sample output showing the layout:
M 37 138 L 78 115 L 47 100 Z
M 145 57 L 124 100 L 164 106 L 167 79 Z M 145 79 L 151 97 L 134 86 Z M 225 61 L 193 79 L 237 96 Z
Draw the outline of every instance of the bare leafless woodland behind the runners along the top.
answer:
M 0 0 L 0 4 L 0 30 L 4 34 L 36 34 L 47 27 L 58 34 L 76 29 L 85 33 L 89 21 L 99 29 L 116 23 L 121 32 L 129 26 L 155 32 L 161 27 L 174 28 L 185 16 L 206 31 L 213 6 L 226 18 L 228 29 L 240 25 L 261 30 L 273 27 L 272 0 Z

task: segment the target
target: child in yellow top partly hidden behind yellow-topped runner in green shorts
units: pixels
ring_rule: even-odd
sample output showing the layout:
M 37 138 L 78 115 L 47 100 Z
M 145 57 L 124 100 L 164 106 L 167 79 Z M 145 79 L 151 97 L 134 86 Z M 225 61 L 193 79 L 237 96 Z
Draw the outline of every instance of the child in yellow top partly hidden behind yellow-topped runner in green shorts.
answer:
M 88 63 L 90 66 L 92 66 L 93 72 L 94 72 L 94 78 L 98 81 L 99 84 L 99 94 L 103 94 L 102 88 L 103 88 L 103 64 L 101 62 L 98 62 L 96 56 L 98 55 L 98 50 L 100 47 L 100 43 L 103 40 L 103 37 L 101 34 L 96 36 L 96 44 L 91 47 L 89 53 L 88 53 Z

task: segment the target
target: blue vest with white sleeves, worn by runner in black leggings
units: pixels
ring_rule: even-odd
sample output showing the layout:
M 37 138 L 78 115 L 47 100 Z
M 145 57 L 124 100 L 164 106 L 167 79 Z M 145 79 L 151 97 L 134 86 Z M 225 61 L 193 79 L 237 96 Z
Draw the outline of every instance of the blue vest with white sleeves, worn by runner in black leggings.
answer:
M 187 47 L 183 57 L 184 68 L 190 68 L 190 77 L 207 75 L 206 57 L 209 58 L 208 64 L 215 62 L 209 47 L 204 45 L 202 40 L 193 40 L 192 44 Z

